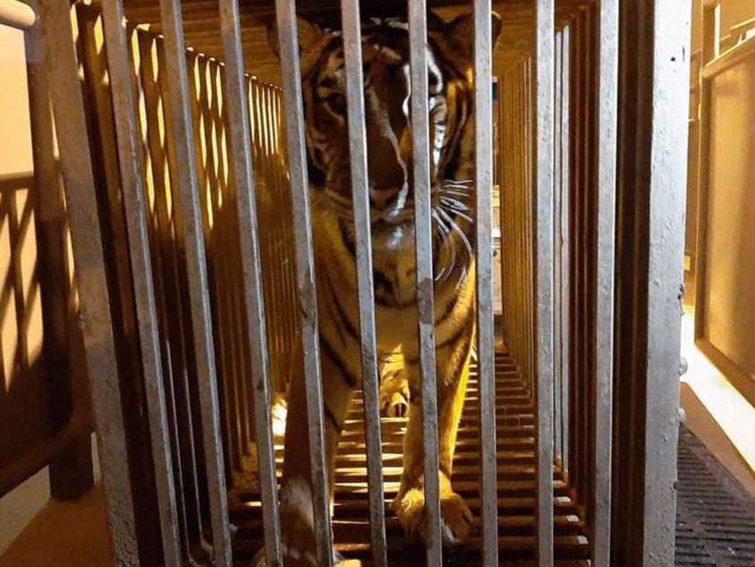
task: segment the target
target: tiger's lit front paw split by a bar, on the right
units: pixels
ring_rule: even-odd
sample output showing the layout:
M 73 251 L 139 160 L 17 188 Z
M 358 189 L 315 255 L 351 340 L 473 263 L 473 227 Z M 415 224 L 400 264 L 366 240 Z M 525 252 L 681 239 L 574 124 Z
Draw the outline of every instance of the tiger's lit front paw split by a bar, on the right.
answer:
M 425 495 L 419 488 L 411 488 L 396 497 L 394 512 L 410 541 L 427 541 L 428 518 Z M 474 516 L 462 496 L 446 492 L 440 497 L 440 538 L 445 547 L 461 544 L 471 532 Z

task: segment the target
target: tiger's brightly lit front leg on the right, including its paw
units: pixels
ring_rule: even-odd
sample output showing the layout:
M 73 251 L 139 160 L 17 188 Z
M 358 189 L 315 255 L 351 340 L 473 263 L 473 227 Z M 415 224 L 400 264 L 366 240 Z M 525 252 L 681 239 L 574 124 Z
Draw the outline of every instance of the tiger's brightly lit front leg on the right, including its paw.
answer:
M 441 539 L 444 546 L 461 543 L 470 533 L 472 514 L 460 495 L 451 486 L 454 445 L 462 415 L 464 395 L 469 379 L 471 345 L 474 340 L 474 321 L 454 342 L 436 351 L 438 453 L 441 507 Z M 422 441 L 422 397 L 419 368 L 411 368 L 411 399 L 409 424 L 403 439 L 403 474 L 399 493 L 394 500 L 394 512 L 410 538 L 427 535 L 424 496 L 424 445 Z

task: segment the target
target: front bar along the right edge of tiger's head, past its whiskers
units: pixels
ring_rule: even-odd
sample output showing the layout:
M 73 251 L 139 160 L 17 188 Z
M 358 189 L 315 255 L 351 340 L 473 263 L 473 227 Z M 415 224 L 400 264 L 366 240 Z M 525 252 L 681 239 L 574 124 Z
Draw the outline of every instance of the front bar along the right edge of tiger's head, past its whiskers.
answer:
M 490 0 L 474 3 L 475 196 L 482 564 L 498 564 L 496 338 L 493 325 L 493 41 Z M 416 186 L 416 185 L 415 185 Z

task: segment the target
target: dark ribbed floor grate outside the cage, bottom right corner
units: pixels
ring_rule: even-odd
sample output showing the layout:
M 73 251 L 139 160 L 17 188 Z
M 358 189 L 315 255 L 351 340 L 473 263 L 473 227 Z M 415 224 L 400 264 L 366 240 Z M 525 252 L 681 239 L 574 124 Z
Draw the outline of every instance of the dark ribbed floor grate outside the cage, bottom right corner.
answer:
M 755 566 L 755 500 L 686 427 L 678 474 L 676 565 Z

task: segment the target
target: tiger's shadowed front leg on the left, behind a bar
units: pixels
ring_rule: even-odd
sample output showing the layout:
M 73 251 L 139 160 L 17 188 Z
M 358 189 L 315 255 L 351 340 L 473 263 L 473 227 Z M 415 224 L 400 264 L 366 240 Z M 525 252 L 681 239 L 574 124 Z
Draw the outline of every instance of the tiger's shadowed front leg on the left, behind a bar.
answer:
M 327 452 L 328 498 L 333 512 L 335 456 L 338 438 L 352 402 L 358 375 L 349 375 L 341 360 L 321 342 L 323 415 Z M 294 372 L 290 387 L 280 495 L 281 534 L 286 567 L 317 567 L 310 482 L 309 419 L 304 373 Z M 340 558 L 335 556 L 334 563 Z M 258 563 L 259 565 L 263 563 Z

